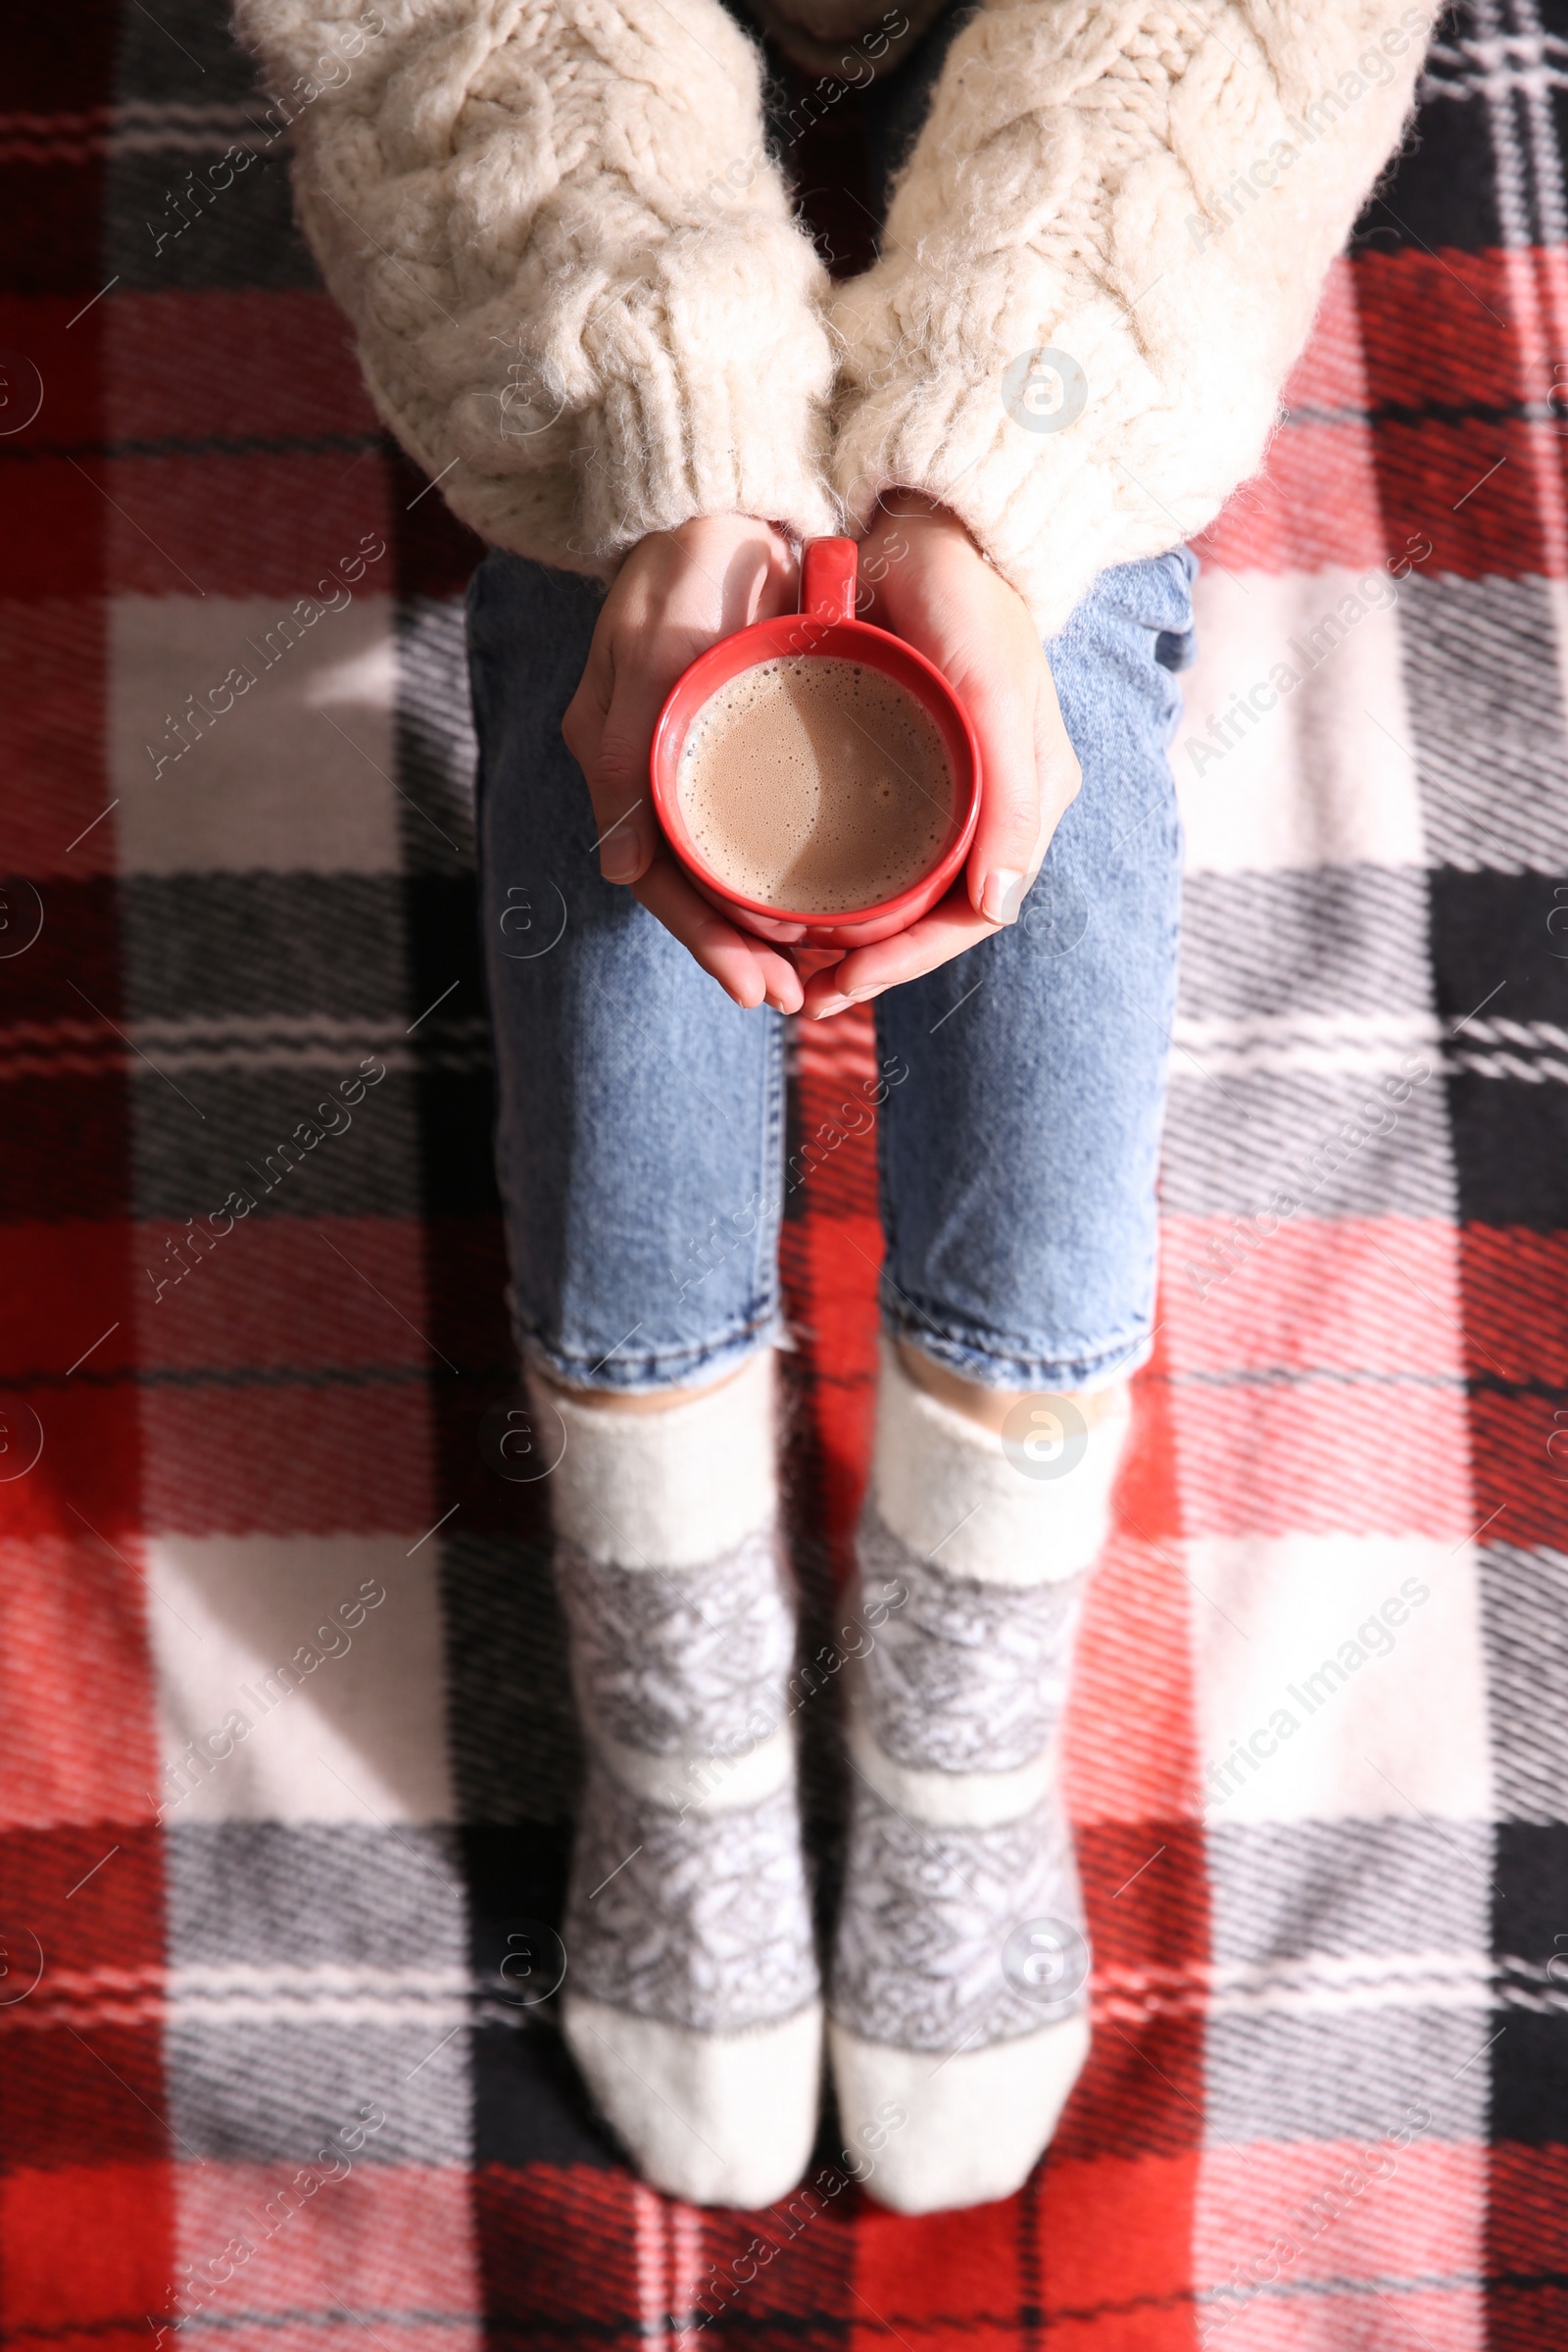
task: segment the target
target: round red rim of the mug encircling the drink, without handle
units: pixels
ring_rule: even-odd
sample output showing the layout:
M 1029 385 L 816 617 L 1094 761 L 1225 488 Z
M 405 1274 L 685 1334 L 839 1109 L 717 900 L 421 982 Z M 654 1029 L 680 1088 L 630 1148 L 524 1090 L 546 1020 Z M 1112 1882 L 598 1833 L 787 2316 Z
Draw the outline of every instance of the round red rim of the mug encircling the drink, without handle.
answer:
M 816 642 L 790 644 L 788 640 L 802 628 L 809 628 Z M 842 640 L 846 635 L 851 637 L 851 642 L 865 649 L 870 668 L 879 670 L 884 677 L 891 677 L 893 684 L 905 689 L 905 694 L 910 694 L 912 689 L 898 675 L 898 668 L 905 663 L 914 668 L 917 677 L 926 687 L 929 699 L 922 694 L 914 694 L 912 699 L 922 703 L 929 717 L 936 715 L 931 710 L 931 701 L 936 701 L 938 706 L 943 706 L 950 720 L 957 722 L 957 731 L 969 755 L 969 776 L 957 779 L 959 786 L 957 797 L 961 802 L 961 814 L 954 809 L 957 830 L 952 840 L 943 849 L 940 858 L 933 858 L 931 866 L 926 866 L 926 870 L 914 877 L 914 882 L 900 889 L 893 898 L 877 898 L 870 906 L 842 908 L 842 910 L 832 908 L 806 915 L 799 908 L 771 906 L 766 898 L 748 898 L 745 891 L 733 889 L 729 882 L 722 882 L 719 875 L 712 873 L 712 868 L 696 851 L 696 844 L 691 842 L 691 833 L 682 816 L 679 795 L 675 790 L 675 771 L 679 767 L 679 753 L 670 753 L 668 746 L 675 729 L 679 727 L 684 748 L 686 731 L 691 729 L 691 722 L 696 720 L 698 710 L 705 703 L 710 703 L 712 696 L 719 691 L 719 687 L 726 687 L 731 677 L 741 677 L 743 670 L 757 670 L 762 668 L 764 661 L 783 661 L 790 654 L 804 661 L 856 659 L 835 652 L 835 647 L 827 642 L 835 637 Z M 766 652 L 759 647 L 757 654 L 745 661 L 733 659 L 733 654 L 741 647 L 757 640 L 766 642 Z M 896 663 L 882 656 L 882 647 L 893 647 L 898 656 Z M 703 687 L 701 675 L 708 666 L 722 670 L 722 675 L 715 677 L 710 687 Z M 910 917 L 919 920 L 922 913 L 929 913 L 929 908 L 933 908 L 947 894 L 947 889 L 959 877 L 964 861 L 969 858 L 976 828 L 980 823 L 980 746 L 964 703 L 947 684 L 943 673 L 936 668 L 936 663 L 919 652 L 919 647 L 907 644 L 903 637 L 896 637 L 889 628 L 877 628 L 875 621 L 858 621 L 851 616 L 827 621 L 820 614 L 811 612 L 785 612 L 776 614 L 771 621 L 752 621 L 750 628 L 738 628 L 733 630 L 733 635 L 719 637 L 703 654 L 698 654 L 696 661 L 689 663 L 675 680 L 670 694 L 665 696 L 663 710 L 658 713 L 658 724 L 654 729 L 654 746 L 649 757 L 649 783 L 654 790 L 654 814 L 658 816 L 663 835 L 675 849 L 677 861 L 691 873 L 693 882 L 698 882 L 705 896 L 719 901 L 719 906 L 731 906 L 745 910 L 748 915 L 759 915 L 764 922 L 804 924 L 806 931 L 839 931 L 865 922 L 879 922 L 886 927 L 882 936 L 891 938 L 900 929 L 900 924 L 889 922 L 891 915 L 900 915 L 905 908 L 914 908 L 914 901 L 919 898 L 924 901 L 924 906 L 919 906 Z M 933 882 L 938 884 L 938 889 L 931 887 Z

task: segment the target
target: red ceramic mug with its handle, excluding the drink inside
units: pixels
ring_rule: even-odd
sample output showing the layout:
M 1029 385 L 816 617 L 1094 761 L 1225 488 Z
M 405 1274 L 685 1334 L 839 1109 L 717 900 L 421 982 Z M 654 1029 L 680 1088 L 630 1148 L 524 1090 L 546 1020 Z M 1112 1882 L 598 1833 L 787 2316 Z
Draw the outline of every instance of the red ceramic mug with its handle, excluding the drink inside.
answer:
M 980 746 L 969 724 L 969 713 L 943 677 L 943 673 L 917 654 L 903 637 L 870 621 L 856 621 L 856 567 L 858 548 L 853 539 L 809 539 L 802 557 L 799 612 L 780 614 L 778 621 L 757 621 L 752 628 L 722 637 L 675 680 L 670 699 L 658 713 L 651 753 L 654 809 L 670 849 L 686 868 L 701 894 L 717 906 L 733 924 L 755 931 L 780 946 L 804 950 L 865 948 L 875 938 L 891 938 L 905 931 L 952 887 L 969 856 L 969 844 L 980 823 Z M 947 764 L 954 779 L 954 814 L 947 842 L 936 863 L 896 898 L 853 913 L 806 915 L 766 906 L 762 898 L 745 898 L 729 889 L 703 863 L 679 807 L 675 788 L 679 755 L 686 731 L 703 703 L 729 684 L 741 670 L 759 661 L 783 661 L 790 656 L 813 656 L 830 661 L 860 661 L 884 677 L 893 677 L 936 722 Z M 830 962 L 830 957 L 820 957 Z

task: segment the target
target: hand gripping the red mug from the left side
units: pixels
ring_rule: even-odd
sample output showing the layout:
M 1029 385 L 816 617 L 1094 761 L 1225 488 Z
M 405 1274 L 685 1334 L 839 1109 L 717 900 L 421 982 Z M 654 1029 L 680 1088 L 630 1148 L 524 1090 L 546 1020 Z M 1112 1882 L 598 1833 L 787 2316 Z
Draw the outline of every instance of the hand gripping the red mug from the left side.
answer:
M 675 680 L 719 637 L 795 612 L 790 541 L 752 515 L 703 515 L 642 539 L 614 579 L 562 734 L 588 779 L 599 873 L 658 915 L 703 971 L 748 1009 L 795 1014 L 804 993 L 788 955 L 738 931 L 675 863 L 654 816 L 649 750 Z

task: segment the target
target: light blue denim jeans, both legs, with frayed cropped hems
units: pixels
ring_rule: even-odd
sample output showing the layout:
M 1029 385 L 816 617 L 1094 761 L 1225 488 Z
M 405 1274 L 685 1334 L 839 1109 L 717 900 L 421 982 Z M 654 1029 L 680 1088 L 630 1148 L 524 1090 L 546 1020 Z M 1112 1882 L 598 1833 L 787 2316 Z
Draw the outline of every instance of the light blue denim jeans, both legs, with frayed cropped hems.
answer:
M 844 1122 L 877 1127 L 884 1322 L 992 1388 L 1105 1385 L 1150 1350 L 1194 569 L 1105 572 L 1051 642 L 1081 793 L 1020 922 L 877 997 L 879 1077 L 849 1089 Z M 517 555 L 468 590 L 498 1171 L 524 1355 L 658 1390 L 778 1338 L 778 1223 L 813 1152 L 785 1167 L 778 1014 L 599 880 L 559 731 L 599 600 Z

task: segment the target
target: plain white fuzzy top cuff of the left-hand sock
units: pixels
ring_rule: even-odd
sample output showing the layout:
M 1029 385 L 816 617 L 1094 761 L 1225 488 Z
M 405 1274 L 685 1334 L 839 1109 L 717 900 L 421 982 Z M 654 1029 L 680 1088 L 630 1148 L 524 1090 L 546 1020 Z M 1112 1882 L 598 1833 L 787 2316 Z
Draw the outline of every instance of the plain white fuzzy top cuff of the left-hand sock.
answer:
M 661 1414 L 578 1404 L 534 1383 L 567 1425 L 550 1477 L 557 1536 L 599 1566 L 698 1569 L 722 1559 L 778 1508 L 773 1350 Z

